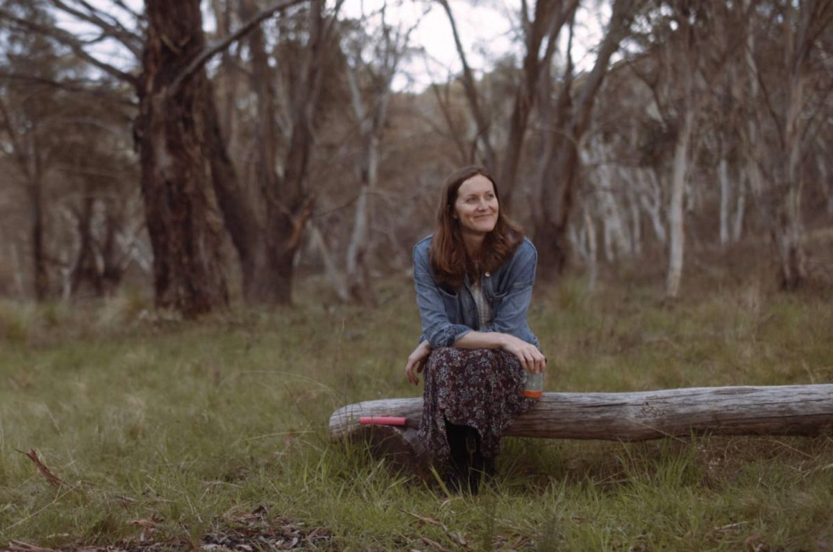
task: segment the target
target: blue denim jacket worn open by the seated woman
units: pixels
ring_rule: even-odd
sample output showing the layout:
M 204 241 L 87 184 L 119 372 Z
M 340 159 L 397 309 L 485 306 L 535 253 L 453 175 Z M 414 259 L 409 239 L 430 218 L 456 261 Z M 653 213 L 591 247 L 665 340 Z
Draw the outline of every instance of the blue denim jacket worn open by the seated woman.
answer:
M 456 290 L 438 285 L 431 274 L 430 249 L 431 236 L 427 236 L 413 250 L 416 305 L 422 321 L 420 341 L 428 340 L 432 349 L 451 347 L 469 331 L 479 329 L 480 320 L 468 276 Z M 482 331 L 511 334 L 538 346 L 538 339 L 526 323 L 537 261 L 535 246 L 524 238 L 508 261 L 482 276 L 483 296 L 495 313 L 491 325 Z

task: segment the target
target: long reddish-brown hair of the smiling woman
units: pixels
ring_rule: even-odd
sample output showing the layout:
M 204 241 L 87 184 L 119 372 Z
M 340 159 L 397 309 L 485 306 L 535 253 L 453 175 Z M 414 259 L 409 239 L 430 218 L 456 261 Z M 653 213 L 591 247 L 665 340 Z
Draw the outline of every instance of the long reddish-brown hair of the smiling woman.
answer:
M 480 175 L 491 182 L 497 198 L 497 222 L 494 229 L 486 234 L 480 256 L 471 259 L 463 244 L 460 221 L 454 216 L 457 191 L 463 182 Z M 431 241 L 431 269 L 434 279 L 440 285 L 457 289 L 463 285 L 466 274 L 476 281 L 484 272 L 496 271 L 521 245 L 521 227 L 506 216 L 501 206 L 495 179 L 483 167 L 462 167 L 446 178 L 442 188 L 440 206 L 436 211 L 436 229 Z

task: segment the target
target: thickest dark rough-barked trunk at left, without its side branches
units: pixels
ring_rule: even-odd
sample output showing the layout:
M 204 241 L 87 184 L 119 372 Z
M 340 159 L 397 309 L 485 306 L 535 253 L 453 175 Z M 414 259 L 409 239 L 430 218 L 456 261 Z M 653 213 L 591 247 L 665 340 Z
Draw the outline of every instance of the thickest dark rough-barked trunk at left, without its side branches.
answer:
M 147 40 L 135 124 L 156 304 L 193 317 L 228 304 L 222 221 L 212 182 L 204 69 L 171 86 L 205 46 L 199 0 L 146 0 Z M 211 110 L 212 111 L 212 110 Z

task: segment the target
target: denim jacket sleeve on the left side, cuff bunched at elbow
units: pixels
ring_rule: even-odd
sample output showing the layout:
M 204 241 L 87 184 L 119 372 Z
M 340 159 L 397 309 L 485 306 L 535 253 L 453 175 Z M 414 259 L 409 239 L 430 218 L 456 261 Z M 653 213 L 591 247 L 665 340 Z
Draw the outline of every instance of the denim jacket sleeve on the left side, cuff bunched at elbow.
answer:
M 434 281 L 424 247 L 414 248 L 413 261 L 416 306 L 419 307 L 422 336 L 428 340 L 432 349 L 451 347 L 458 339 L 471 331 L 471 328 L 462 324 L 452 324 L 449 320 L 446 301 L 454 303 L 456 297 L 445 294 L 445 291 L 441 291 L 440 286 Z

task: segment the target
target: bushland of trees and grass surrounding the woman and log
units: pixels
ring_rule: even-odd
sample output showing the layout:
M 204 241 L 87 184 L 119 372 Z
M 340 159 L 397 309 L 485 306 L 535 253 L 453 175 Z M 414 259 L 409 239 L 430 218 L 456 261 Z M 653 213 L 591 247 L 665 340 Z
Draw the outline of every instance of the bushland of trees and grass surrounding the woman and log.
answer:
M 0 2 L 0 546 L 829 549 L 829 437 L 508 440 L 472 500 L 324 426 L 417 392 L 411 246 L 469 163 L 548 389 L 829 382 L 833 2 L 501 2 L 459 72 L 406 5 L 468 7 Z

